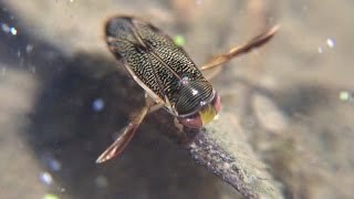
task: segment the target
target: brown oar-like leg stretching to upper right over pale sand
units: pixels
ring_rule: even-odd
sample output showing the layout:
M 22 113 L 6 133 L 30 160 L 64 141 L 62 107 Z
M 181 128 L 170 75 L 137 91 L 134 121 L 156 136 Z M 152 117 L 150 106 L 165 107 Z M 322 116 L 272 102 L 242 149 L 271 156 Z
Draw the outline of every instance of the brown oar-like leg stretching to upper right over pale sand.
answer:
M 268 31 L 254 36 L 247 43 L 239 45 L 237 48 L 231 49 L 229 52 L 225 54 L 217 55 L 216 57 L 208 61 L 206 64 L 204 64 L 199 70 L 206 71 L 210 70 L 217 66 L 220 66 L 221 64 L 230 61 L 233 57 L 237 57 L 241 54 L 246 54 L 250 52 L 251 50 L 259 48 L 267 43 L 278 31 L 279 25 L 274 25 L 273 28 L 269 29 Z

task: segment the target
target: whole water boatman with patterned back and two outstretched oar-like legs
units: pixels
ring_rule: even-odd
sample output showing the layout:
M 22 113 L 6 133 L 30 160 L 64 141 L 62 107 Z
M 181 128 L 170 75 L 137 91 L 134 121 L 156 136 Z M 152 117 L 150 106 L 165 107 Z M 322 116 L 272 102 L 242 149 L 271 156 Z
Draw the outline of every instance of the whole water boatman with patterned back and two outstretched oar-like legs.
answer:
M 188 128 L 200 128 L 220 111 L 220 96 L 201 71 L 261 46 L 278 27 L 263 32 L 243 45 L 220 54 L 197 67 L 185 50 L 153 24 L 133 17 L 118 15 L 105 24 L 110 51 L 145 91 L 146 105 L 125 127 L 123 134 L 97 158 L 103 163 L 119 155 L 128 145 L 145 116 L 163 107 Z

